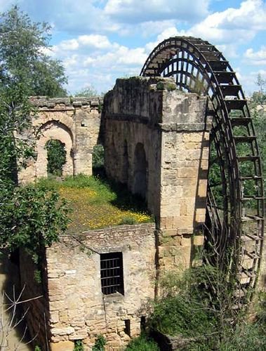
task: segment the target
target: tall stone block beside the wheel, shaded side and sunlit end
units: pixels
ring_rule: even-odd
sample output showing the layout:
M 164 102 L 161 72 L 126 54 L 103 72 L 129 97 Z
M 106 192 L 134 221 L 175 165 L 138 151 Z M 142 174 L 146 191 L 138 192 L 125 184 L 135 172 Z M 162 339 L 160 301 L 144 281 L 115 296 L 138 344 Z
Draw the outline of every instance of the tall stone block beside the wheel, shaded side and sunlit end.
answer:
M 175 90 L 172 79 L 161 77 L 117 79 L 105 95 L 107 175 L 146 199 L 157 218 L 160 265 L 166 269 L 189 266 L 194 241 L 201 241 L 194 234 L 206 213 L 206 104 L 206 97 Z

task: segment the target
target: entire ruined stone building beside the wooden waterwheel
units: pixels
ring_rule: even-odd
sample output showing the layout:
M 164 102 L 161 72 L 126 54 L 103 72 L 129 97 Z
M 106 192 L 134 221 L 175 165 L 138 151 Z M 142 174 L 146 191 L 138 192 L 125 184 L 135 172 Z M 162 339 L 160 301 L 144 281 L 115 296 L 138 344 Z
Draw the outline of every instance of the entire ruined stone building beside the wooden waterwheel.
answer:
M 159 272 L 189 267 L 202 244 L 197 234 L 206 214 L 207 98 L 175 90 L 172 79 L 133 77 L 117 79 L 105 95 L 102 114 L 100 98 L 41 98 L 34 105 L 39 117 L 33 124 L 41 132 L 38 157 L 20 174 L 21 181 L 46 176 L 48 138 L 65 144 L 64 175 L 91 175 L 93 147 L 102 140 L 107 176 L 142 196 L 156 225 L 62 236 L 46 249 L 41 286 L 22 254 L 27 297 L 44 296 L 29 303 L 29 330 L 48 350 L 73 350 L 75 340 L 91 350 L 98 334 L 107 339 L 107 350 L 121 350 L 140 335 L 147 301 L 159 293 Z M 81 242 L 91 255 L 80 251 Z M 106 257 L 121 262 L 119 292 L 101 286 Z

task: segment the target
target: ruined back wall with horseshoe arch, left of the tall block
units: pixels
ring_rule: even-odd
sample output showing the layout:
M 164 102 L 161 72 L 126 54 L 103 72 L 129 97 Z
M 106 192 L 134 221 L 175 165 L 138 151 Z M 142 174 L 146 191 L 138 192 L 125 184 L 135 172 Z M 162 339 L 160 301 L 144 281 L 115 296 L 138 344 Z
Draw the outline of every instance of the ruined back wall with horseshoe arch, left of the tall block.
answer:
M 37 108 L 36 117 L 32 117 L 32 131 L 37 135 L 36 161 L 29 160 L 28 166 L 19 175 L 25 183 L 47 176 L 46 142 L 60 140 L 67 152 L 62 175 L 92 173 L 93 147 L 98 143 L 100 129 L 101 98 L 32 98 Z M 29 133 L 29 131 L 27 131 Z

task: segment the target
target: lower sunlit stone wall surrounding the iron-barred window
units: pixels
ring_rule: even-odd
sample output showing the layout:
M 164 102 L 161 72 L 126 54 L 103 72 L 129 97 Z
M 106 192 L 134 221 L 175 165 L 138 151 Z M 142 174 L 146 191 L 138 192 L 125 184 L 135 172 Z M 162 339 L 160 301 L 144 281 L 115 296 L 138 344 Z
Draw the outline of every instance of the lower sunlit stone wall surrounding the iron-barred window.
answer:
M 74 340 L 83 340 L 91 350 L 98 334 L 107 338 L 107 350 L 121 350 L 138 336 L 147 300 L 154 298 L 155 251 L 151 223 L 65 235 L 48 248 L 52 350 L 73 350 Z M 108 252 L 123 254 L 124 295 L 102 293 L 100 253 Z

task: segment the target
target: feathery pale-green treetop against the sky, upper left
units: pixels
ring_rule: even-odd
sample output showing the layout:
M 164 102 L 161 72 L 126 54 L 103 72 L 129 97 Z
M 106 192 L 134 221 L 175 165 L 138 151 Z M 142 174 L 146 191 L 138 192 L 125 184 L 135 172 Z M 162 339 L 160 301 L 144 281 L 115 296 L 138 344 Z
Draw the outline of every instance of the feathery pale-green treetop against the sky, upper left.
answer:
M 32 22 L 18 6 L 2 13 L 0 19 L 1 76 L 23 84 L 25 95 L 65 96 L 64 68 L 45 54 L 51 26 Z

